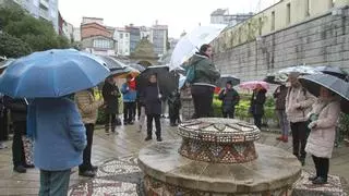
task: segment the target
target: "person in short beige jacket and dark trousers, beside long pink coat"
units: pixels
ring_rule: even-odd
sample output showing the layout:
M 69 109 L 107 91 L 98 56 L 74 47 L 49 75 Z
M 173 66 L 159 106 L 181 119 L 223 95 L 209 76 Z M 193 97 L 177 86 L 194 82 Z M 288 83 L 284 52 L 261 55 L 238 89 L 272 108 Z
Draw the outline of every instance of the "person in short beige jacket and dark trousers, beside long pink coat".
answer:
M 291 73 L 289 82 L 291 87 L 286 96 L 286 114 L 292 131 L 293 155 L 305 164 L 305 145 L 309 134 L 306 114 L 311 111 L 315 97 L 302 87 L 298 81 L 299 73 Z

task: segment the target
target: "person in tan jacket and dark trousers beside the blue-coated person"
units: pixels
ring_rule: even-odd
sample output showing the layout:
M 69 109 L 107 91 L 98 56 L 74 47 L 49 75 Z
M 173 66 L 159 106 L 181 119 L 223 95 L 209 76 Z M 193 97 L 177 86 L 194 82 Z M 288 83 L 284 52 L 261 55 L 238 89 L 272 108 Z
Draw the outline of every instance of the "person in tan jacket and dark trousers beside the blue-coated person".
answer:
M 93 89 L 82 90 L 75 94 L 75 102 L 86 127 L 87 146 L 83 154 L 83 163 L 79 167 L 79 174 L 93 177 L 97 167 L 92 166 L 91 154 L 95 124 L 98 118 L 98 108 L 104 106 L 103 100 L 95 100 Z

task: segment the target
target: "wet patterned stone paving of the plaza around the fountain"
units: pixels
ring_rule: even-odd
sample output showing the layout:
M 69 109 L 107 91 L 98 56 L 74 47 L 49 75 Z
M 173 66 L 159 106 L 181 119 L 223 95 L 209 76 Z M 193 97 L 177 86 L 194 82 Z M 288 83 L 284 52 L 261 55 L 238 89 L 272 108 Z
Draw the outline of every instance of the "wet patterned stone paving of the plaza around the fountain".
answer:
M 179 139 L 176 127 L 169 127 L 168 121 L 163 121 L 164 139 Z M 119 134 L 106 135 L 101 126 L 97 126 L 93 147 L 93 163 L 99 166 L 95 179 L 77 175 L 77 169 L 72 171 L 70 195 L 140 195 L 142 189 L 142 172 L 137 168 L 136 157 L 141 148 L 153 142 L 144 142 L 145 131 L 137 131 L 137 123 L 130 126 L 120 126 Z M 263 132 L 257 143 L 279 147 L 291 151 L 289 143 L 280 143 L 275 138 L 278 135 Z M 155 137 L 155 135 L 154 135 Z M 13 172 L 11 143 L 9 148 L 0 150 L 0 195 L 37 195 L 39 188 L 39 172 L 28 169 L 27 173 Z M 330 160 L 330 174 L 349 180 L 349 148 L 340 145 L 335 148 Z M 306 159 L 305 171 L 313 171 L 313 162 Z

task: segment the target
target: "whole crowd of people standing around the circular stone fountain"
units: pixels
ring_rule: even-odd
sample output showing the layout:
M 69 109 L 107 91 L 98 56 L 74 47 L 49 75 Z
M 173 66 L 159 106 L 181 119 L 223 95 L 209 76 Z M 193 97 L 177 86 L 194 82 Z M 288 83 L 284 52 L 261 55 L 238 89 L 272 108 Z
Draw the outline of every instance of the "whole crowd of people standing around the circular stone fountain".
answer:
M 213 96 L 219 71 L 212 62 L 213 49 L 203 45 L 191 59 L 195 76 L 191 83 L 191 95 L 194 103 L 193 118 L 213 117 Z M 276 110 L 280 119 L 282 134 L 278 139 L 288 142 L 289 127 L 292 132 L 293 155 L 302 164 L 306 152 L 311 154 L 316 168 L 316 175 L 310 180 L 314 184 L 327 182 L 329 158 L 332 156 L 336 122 L 340 112 L 339 100 L 330 90 L 321 88 L 316 99 L 298 81 L 299 74 L 289 75 L 290 87 L 281 85 L 274 94 Z M 103 87 L 103 99 L 97 100 L 93 89 L 85 89 L 61 98 L 39 98 L 35 100 L 13 99 L 4 96 L 2 105 L 11 111 L 13 125 L 13 166 L 14 171 L 24 173 L 26 168 L 40 169 L 39 195 L 67 195 L 71 169 L 79 166 L 79 174 L 93 177 L 98 167 L 91 161 L 94 128 L 98 109 L 106 112 L 106 133 L 116 132 L 121 124 L 119 98 L 124 103 L 124 125 L 133 124 L 139 110 L 140 131 L 146 118 L 147 136 L 153 139 L 153 122 L 156 126 L 156 139 L 161 142 L 164 94 L 159 89 L 157 75 L 148 77 L 144 89 L 135 89 L 134 78 L 127 82 L 119 90 L 112 76 L 106 78 Z M 180 93 L 173 91 L 167 97 L 170 124 L 180 123 Z M 234 106 L 240 100 L 231 82 L 219 94 L 222 100 L 225 118 L 234 118 Z M 266 89 L 261 85 L 253 91 L 250 112 L 255 125 L 261 127 L 264 114 Z M 290 124 L 289 124 L 290 123 Z M 27 135 L 35 142 L 34 164 L 25 161 L 22 136 Z M 58 159 L 59 158 L 59 159 Z

